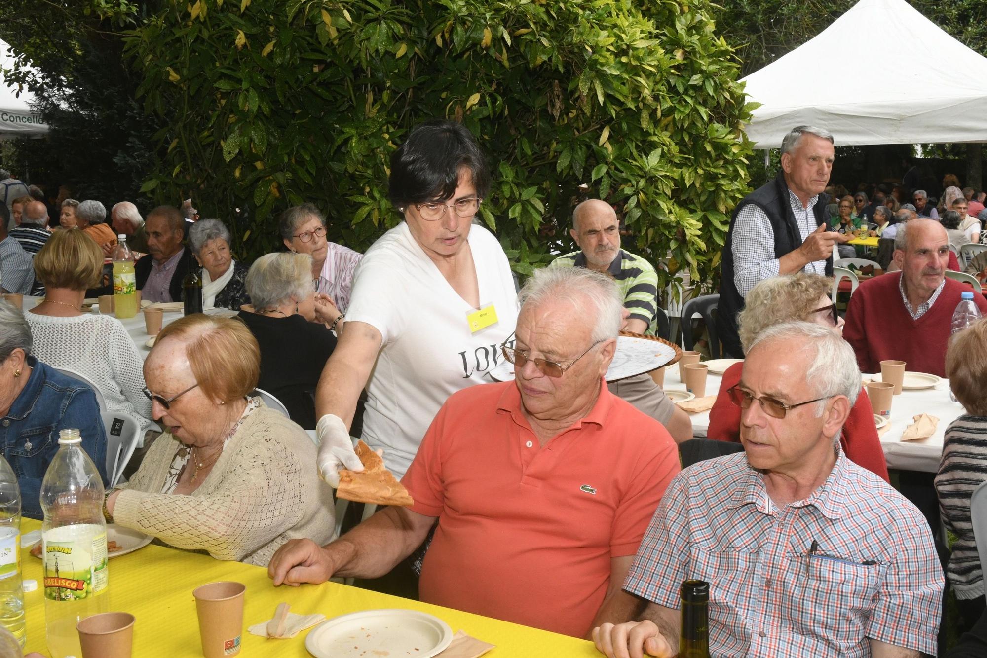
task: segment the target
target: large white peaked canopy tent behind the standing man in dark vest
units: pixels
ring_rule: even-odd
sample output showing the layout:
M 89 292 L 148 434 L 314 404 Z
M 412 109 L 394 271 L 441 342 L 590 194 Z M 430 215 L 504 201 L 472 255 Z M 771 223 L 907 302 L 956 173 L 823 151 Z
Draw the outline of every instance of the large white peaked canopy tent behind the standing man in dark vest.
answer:
M 894 84 L 873 84 L 874 71 Z M 905 0 L 861 0 L 741 82 L 762 104 L 745 128 L 761 149 L 797 125 L 825 128 L 841 146 L 987 141 L 987 58 Z

